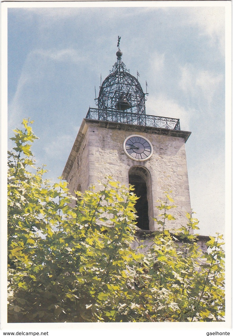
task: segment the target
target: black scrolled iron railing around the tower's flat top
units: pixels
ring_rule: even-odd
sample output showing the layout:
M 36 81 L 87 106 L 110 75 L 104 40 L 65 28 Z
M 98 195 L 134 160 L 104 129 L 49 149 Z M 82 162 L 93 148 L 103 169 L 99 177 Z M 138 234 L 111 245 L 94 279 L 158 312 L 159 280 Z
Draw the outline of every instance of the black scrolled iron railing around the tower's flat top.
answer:
M 112 121 L 122 124 L 151 126 L 180 130 L 180 119 L 150 116 L 118 110 L 100 110 L 89 108 L 86 119 Z

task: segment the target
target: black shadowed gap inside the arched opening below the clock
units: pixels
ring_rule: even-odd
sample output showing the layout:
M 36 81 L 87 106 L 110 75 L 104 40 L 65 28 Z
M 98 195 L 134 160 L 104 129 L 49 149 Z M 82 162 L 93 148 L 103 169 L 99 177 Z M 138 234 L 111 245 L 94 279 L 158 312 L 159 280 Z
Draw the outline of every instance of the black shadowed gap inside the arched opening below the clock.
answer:
M 147 200 L 147 183 L 142 174 L 138 175 L 137 172 L 130 173 L 129 171 L 129 184 L 134 185 L 134 194 L 139 197 L 135 204 L 137 211 L 137 226 L 143 230 L 149 230 L 149 215 L 148 215 L 148 200 Z

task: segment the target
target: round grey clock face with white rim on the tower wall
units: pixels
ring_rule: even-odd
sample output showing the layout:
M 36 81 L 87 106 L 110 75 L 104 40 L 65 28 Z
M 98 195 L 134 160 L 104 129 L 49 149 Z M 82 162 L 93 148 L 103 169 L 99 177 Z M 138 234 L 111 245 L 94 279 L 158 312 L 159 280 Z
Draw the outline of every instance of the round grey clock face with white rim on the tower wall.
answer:
M 130 135 L 125 139 L 123 149 L 125 154 L 136 161 L 146 161 L 153 154 L 151 142 L 144 136 L 137 134 Z

